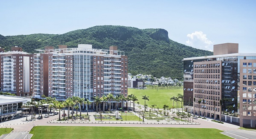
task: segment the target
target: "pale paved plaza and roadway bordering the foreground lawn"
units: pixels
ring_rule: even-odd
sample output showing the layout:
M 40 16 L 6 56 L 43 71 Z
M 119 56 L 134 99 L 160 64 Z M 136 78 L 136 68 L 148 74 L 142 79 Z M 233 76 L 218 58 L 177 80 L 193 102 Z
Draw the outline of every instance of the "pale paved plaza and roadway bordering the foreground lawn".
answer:
M 67 111 L 65 112 L 67 113 Z M 62 113 L 61 113 L 62 114 Z M 81 114 L 87 114 L 86 111 Z M 28 121 L 26 121 L 26 117 L 17 117 L 13 120 L 7 122 L 1 122 L 0 128 L 14 128 L 14 130 L 10 134 L 4 134 L 0 137 L 0 139 L 23 139 L 23 138 L 31 138 L 31 134 L 29 131 L 33 128 L 33 126 L 44 125 L 44 126 L 120 126 L 120 127 L 170 127 L 170 128 L 217 128 L 224 132 L 223 134 L 233 137 L 235 139 L 254 139 L 256 136 L 256 131 L 245 131 L 238 129 L 239 126 L 232 125 L 229 123 L 221 124 L 217 122 L 212 122 L 212 119 L 193 119 L 191 122 L 182 122 L 177 120 L 146 120 L 144 122 L 140 121 L 121 121 L 121 120 L 104 120 L 104 121 L 96 121 L 94 115 L 99 115 L 96 112 L 89 112 L 90 121 L 88 120 L 69 120 L 69 121 L 57 121 L 58 115 L 54 115 L 48 118 L 43 118 L 41 120 L 31 120 L 31 115 L 27 117 Z M 133 112 L 133 114 L 135 114 Z M 114 115 L 114 113 L 112 113 Z M 137 116 L 138 113 L 136 113 Z M 44 114 L 43 114 L 44 116 Z M 124 116 L 124 115 L 123 115 Z M 38 117 L 38 115 L 36 115 Z M 62 118 L 62 117 L 61 117 Z M 192 118 L 191 118 L 192 120 Z

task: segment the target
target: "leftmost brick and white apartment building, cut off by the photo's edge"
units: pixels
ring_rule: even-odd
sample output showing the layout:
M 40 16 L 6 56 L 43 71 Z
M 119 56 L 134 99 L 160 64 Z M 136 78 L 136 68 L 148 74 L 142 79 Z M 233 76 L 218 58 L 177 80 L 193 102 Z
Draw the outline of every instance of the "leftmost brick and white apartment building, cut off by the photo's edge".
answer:
M 21 97 L 32 96 L 32 54 L 22 51 L 21 47 L 12 47 L 4 52 L 0 48 L 0 89 Z

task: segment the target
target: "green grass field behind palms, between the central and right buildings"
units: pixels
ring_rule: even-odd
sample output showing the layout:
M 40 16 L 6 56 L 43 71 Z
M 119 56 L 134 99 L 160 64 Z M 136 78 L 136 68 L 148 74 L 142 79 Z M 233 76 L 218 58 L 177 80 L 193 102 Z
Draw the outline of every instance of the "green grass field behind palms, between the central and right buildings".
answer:
M 173 101 L 170 100 L 171 97 L 177 97 L 178 94 L 183 95 L 183 88 L 181 89 L 128 89 L 128 95 L 134 94 L 141 105 L 144 105 L 144 100 L 142 99 L 143 95 L 149 96 L 146 100 L 148 107 L 151 105 L 157 105 L 156 108 L 163 108 L 163 105 L 168 105 L 169 108 L 172 107 Z M 135 102 L 135 103 L 137 103 Z M 176 108 L 176 102 L 174 102 Z M 181 103 L 180 103 L 181 107 Z

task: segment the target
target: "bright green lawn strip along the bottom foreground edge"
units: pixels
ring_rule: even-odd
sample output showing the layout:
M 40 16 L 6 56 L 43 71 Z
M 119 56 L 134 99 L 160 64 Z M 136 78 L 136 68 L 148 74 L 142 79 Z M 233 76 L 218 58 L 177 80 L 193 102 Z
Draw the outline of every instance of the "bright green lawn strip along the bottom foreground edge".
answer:
M 213 128 L 35 126 L 31 139 L 231 139 Z

